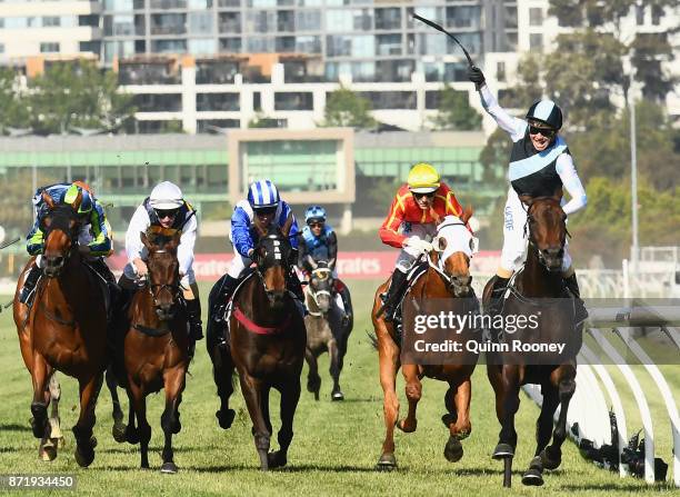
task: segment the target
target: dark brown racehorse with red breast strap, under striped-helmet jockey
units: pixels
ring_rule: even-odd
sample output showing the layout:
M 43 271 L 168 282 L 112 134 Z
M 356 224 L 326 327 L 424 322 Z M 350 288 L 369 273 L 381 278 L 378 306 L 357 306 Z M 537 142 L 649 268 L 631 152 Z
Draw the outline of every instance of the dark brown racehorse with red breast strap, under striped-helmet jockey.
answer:
M 292 249 L 288 239 L 291 223 L 292 217 L 282 229 L 253 223 L 259 238 L 252 255 L 256 268 L 232 297 L 228 350 L 217 350 L 217 346 L 210 350 L 221 400 L 217 412 L 220 426 L 229 428 L 233 420 L 229 397 L 233 392 L 231 377 L 236 367 L 263 471 L 288 461 L 307 342 L 302 315 L 286 288 L 291 268 Z M 281 394 L 281 429 L 279 450 L 269 453 L 272 387 Z

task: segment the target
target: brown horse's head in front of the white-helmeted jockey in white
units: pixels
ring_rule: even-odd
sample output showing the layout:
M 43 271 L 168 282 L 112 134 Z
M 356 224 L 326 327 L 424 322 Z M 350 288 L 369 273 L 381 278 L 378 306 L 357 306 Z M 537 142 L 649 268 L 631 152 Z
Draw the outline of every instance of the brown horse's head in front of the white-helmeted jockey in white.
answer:
M 171 237 L 162 235 L 147 236 L 141 232 L 141 242 L 147 248 L 147 267 L 149 268 L 149 291 L 153 297 L 156 315 L 161 321 L 174 317 L 180 294 L 179 261 L 177 248 L 181 231 Z

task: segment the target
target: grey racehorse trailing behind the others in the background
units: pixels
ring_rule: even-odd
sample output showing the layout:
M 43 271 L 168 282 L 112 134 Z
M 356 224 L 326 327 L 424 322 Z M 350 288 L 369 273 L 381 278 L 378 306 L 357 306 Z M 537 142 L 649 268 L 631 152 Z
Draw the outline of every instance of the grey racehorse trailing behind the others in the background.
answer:
M 308 316 L 304 317 L 307 328 L 307 349 L 304 359 L 309 365 L 307 390 L 314 394 L 319 400 L 321 377 L 317 358 L 324 351 L 330 356 L 330 375 L 333 378 L 331 400 L 343 400 L 340 389 L 340 372 L 347 354 L 347 341 L 352 331 L 351 320 L 342 320 L 340 309 L 334 299 L 333 272 L 328 262 L 320 260 L 310 275 L 309 285 L 304 291 L 304 305 Z

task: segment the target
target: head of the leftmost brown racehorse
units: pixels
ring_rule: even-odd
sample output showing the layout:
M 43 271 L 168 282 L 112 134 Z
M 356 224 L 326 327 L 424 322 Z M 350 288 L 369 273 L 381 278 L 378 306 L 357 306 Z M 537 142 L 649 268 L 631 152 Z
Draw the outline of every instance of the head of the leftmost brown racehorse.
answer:
M 82 201 L 82 192 L 72 203 L 56 205 L 52 197 L 42 192 L 42 200 L 48 206 L 48 213 L 42 218 L 40 228 L 44 232 L 44 274 L 49 278 L 59 276 L 61 269 L 78 245 L 78 208 Z

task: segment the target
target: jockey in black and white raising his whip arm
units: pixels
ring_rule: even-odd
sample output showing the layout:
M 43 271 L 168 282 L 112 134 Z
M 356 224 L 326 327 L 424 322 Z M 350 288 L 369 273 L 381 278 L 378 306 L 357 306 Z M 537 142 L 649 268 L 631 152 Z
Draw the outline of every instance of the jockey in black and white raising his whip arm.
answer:
M 526 258 L 527 210 L 519 196 L 552 196 L 564 187 L 571 197 L 569 202 L 562 200 L 562 210 L 567 216 L 586 207 L 588 199 L 567 142 L 558 136 L 562 127 L 562 110 L 552 100 L 539 100 L 529 108 L 526 120 L 514 118 L 498 105 L 479 68 L 471 67 L 468 76 L 480 92 L 487 112 L 510 135 L 513 142 L 509 169 L 511 186 L 504 210 L 503 249 L 491 292 L 490 312 L 497 314 L 512 272 Z M 579 284 L 567 245 L 562 275 L 567 288 L 577 299 L 577 321 L 581 321 L 588 314 L 580 299 Z

